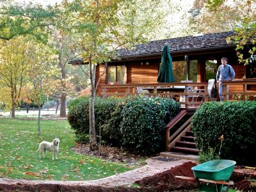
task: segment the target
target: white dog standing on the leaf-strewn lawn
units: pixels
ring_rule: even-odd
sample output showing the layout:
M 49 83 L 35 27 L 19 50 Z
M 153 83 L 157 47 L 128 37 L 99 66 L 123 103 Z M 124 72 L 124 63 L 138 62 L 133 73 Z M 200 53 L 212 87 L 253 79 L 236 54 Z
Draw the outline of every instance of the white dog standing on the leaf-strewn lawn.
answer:
M 42 141 L 39 144 L 39 158 L 41 158 L 41 152 L 43 153 L 43 157 L 45 157 L 45 152 L 46 150 L 49 150 L 52 152 L 52 160 L 54 160 L 54 156 L 55 159 L 57 158 L 57 154 L 59 151 L 59 145 L 60 145 L 60 140 L 58 138 L 55 138 L 52 142 L 47 142 L 47 141 Z M 36 152 L 38 152 L 38 150 L 36 150 Z

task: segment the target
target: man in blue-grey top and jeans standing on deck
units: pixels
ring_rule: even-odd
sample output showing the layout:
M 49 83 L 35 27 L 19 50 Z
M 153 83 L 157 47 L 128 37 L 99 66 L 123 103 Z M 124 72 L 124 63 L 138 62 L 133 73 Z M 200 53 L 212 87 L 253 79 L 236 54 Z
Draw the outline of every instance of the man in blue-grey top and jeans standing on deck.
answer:
M 231 67 L 231 65 L 227 64 L 227 58 L 221 58 L 221 65 L 218 68 L 217 74 L 216 74 L 216 80 L 217 83 L 219 83 L 219 96 L 220 96 L 220 101 L 223 102 L 223 81 L 232 81 L 234 77 L 236 76 L 236 73 L 234 71 L 234 68 Z M 227 85 L 227 90 L 228 92 L 228 85 Z

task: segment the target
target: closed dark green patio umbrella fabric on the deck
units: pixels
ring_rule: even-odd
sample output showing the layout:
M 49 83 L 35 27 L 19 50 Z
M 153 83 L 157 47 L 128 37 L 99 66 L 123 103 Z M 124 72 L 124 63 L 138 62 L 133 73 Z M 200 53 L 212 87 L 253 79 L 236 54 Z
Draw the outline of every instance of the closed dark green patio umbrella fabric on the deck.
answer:
M 168 45 L 164 45 L 161 67 L 157 76 L 158 83 L 172 83 L 174 82 L 174 74 L 172 67 L 172 56 L 170 54 L 170 49 Z

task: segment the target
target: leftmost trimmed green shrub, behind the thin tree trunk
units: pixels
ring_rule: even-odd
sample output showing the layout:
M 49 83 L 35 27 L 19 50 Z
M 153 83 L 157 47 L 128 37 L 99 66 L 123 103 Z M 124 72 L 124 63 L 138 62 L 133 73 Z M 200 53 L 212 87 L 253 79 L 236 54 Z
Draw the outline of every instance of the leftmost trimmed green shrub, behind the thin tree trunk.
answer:
M 133 97 L 102 99 L 95 98 L 95 131 L 97 140 L 101 144 L 120 146 L 122 135 L 120 133 L 121 111 L 128 100 Z M 89 115 L 90 98 L 79 97 L 68 104 L 68 122 L 80 143 L 88 143 L 90 130 Z

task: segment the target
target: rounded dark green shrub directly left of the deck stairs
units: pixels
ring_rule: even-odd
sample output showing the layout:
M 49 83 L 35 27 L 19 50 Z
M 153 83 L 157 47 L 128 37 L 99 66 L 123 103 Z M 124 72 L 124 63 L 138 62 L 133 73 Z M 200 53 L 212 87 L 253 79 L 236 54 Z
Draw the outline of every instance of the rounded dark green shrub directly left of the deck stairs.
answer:
M 165 125 L 180 111 L 172 99 L 137 97 L 122 110 L 122 146 L 140 154 L 156 154 L 165 148 Z

